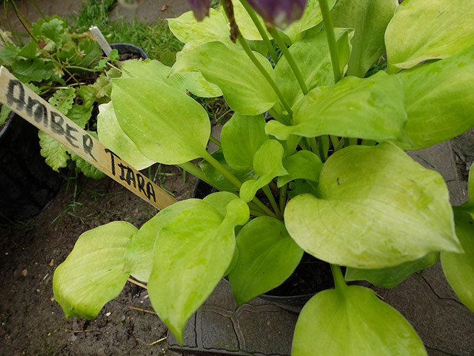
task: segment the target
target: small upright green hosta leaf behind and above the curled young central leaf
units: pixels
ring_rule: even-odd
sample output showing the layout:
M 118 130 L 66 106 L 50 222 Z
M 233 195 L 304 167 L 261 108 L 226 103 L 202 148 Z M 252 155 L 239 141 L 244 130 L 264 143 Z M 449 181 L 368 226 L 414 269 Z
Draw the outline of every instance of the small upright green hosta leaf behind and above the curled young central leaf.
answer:
M 235 169 L 251 167 L 253 156 L 267 140 L 263 115 L 234 113 L 221 132 L 225 160 Z

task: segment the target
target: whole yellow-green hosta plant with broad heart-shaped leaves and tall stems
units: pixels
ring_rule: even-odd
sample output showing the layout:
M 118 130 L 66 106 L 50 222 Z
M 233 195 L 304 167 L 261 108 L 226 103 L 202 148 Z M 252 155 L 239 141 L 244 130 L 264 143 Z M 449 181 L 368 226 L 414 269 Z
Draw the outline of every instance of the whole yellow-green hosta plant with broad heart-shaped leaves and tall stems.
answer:
M 302 309 L 293 355 L 426 355 L 400 313 L 346 280 L 393 286 L 441 252 L 474 310 L 474 178 L 469 202 L 452 208 L 440 175 L 404 152 L 474 126 L 474 30 L 459 25 L 474 8 L 225 0 L 204 17 L 209 1 L 191 3 L 202 21 L 169 20 L 185 43 L 177 62 L 122 68 L 100 115 L 117 123 L 124 153 L 134 148 L 131 164 L 177 164 L 221 191 L 170 205 L 139 230 L 117 221 L 82 234 L 54 274 L 66 317 L 94 318 L 133 276 L 182 342 L 223 276 L 242 304 L 280 285 L 307 252 L 330 263 L 335 289 Z M 386 71 L 374 65 L 385 49 Z M 186 90 L 223 95 L 235 111 L 220 142 Z M 212 155 L 210 141 L 221 147 Z

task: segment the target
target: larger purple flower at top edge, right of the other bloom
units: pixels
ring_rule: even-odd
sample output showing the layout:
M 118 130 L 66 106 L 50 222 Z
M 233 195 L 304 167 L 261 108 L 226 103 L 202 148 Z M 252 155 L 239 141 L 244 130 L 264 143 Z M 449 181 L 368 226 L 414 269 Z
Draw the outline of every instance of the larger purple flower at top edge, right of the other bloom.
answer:
M 247 0 L 249 5 L 263 17 L 264 21 L 276 27 L 289 25 L 300 19 L 307 0 Z

